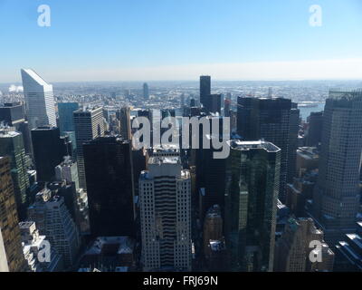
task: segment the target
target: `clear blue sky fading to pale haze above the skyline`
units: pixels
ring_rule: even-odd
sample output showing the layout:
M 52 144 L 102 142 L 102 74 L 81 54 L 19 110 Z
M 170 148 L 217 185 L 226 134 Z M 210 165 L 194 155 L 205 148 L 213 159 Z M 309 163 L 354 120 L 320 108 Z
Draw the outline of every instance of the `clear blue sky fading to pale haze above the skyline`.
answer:
M 0 0 L 0 83 L 21 68 L 48 82 L 361 79 L 361 16 L 360 0 Z

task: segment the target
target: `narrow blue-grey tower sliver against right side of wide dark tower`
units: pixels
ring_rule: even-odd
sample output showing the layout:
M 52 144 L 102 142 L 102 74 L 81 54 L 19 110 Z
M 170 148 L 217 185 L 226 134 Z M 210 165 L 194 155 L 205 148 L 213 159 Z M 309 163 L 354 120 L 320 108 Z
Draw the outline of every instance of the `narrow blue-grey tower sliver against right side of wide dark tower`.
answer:
M 296 162 L 297 162 L 297 149 L 298 149 L 298 135 L 300 131 L 300 110 L 298 104 L 291 103 L 291 116 L 289 121 L 289 144 L 288 144 L 288 168 L 287 168 L 287 182 L 293 182 L 296 177 Z

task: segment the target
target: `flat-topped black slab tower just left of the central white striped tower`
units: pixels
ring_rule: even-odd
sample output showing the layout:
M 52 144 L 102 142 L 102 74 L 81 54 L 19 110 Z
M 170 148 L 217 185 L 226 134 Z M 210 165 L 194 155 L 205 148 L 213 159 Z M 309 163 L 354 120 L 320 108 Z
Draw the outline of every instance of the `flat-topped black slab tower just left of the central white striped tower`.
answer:
M 134 236 L 130 142 L 117 137 L 102 137 L 84 143 L 83 153 L 91 235 Z

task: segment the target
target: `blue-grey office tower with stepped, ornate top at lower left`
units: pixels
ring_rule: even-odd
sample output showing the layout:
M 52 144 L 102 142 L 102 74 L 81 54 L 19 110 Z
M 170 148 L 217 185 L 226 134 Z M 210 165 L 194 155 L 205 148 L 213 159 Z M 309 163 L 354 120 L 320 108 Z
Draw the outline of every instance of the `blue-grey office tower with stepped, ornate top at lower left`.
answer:
M 80 240 L 64 198 L 50 189 L 43 189 L 28 208 L 28 218 L 35 222 L 40 234 L 48 237 L 52 247 L 63 256 L 64 266 L 72 266 L 76 262 Z

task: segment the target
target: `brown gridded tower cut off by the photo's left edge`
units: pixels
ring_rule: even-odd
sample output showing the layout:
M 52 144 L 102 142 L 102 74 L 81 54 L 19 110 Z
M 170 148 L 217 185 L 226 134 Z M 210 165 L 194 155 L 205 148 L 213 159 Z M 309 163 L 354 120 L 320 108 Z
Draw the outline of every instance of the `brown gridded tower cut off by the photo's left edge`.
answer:
M 10 160 L 0 157 L 0 272 L 25 271 Z

